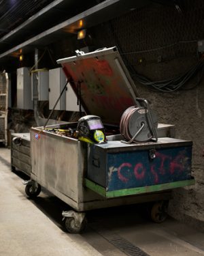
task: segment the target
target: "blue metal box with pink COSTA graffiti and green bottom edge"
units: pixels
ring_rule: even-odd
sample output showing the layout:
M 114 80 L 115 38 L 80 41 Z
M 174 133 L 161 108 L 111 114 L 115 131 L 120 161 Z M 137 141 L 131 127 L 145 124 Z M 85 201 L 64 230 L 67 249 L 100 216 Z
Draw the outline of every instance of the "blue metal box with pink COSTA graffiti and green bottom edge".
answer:
M 105 197 L 175 188 L 191 179 L 191 157 L 191 141 L 167 137 L 133 145 L 92 145 L 86 184 Z

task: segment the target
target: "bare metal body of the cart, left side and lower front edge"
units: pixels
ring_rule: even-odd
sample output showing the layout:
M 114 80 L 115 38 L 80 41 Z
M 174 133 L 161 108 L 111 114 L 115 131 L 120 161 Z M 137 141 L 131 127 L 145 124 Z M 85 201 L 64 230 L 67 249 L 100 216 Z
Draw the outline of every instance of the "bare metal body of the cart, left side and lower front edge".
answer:
M 55 126 L 61 128 L 64 124 Z M 31 128 L 31 179 L 75 210 L 85 211 L 170 198 L 171 194 L 163 191 L 140 197 L 133 195 L 104 199 L 84 186 L 88 144 L 42 130 Z

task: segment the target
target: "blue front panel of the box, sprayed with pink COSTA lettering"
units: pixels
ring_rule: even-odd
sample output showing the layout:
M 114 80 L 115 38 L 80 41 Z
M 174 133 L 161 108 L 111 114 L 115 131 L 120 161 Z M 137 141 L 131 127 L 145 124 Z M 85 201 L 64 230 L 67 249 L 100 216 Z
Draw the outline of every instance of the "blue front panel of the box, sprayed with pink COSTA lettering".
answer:
M 191 175 L 191 147 L 108 154 L 107 191 L 188 180 Z

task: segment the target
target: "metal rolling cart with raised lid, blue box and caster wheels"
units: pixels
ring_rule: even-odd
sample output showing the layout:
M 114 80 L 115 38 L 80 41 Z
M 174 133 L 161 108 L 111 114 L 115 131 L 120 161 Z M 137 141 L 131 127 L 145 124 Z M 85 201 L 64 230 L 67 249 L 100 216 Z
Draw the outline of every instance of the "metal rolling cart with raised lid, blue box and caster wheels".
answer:
M 77 52 L 58 63 L 88 116 L 31 128 L 27 195 L 36 197 L 44 186 L 70 205 L 63 217 L 71 233 L 82 231 L 86 211 L 116 205 L 155 202 L 152 219 L 163 221 L 171 189 L 194 184 L 192 142 L 171 138 L 174 126 L 157 126 L 148 102 L 139 103 L 116 47 Z M 136 112 L 126 139 L 119 124 L 130 106 Z

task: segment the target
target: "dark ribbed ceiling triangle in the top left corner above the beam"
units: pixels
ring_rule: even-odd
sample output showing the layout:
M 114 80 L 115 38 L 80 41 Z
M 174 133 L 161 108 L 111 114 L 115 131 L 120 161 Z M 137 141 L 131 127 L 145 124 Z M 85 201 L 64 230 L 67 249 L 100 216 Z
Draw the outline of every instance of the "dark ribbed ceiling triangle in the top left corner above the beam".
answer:
M 0 38 L 54 0 L 0 0 Z

